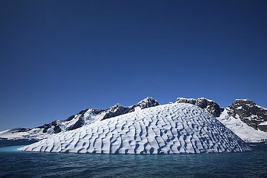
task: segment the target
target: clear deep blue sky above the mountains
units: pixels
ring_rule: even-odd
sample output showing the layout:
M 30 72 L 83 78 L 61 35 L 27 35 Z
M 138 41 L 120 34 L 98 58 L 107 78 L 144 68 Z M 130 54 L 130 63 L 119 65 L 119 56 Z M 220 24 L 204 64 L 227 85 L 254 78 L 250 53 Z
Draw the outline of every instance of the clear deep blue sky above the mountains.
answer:
M 267 107 L 267 1 L 0 1 L 0 130 L 152 96 Z

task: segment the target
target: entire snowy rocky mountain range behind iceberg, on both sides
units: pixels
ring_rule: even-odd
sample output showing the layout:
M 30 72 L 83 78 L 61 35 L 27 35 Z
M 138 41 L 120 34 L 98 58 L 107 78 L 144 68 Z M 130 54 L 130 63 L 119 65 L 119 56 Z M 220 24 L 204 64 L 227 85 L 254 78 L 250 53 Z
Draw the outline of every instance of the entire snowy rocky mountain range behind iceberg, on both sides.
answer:
M 177 98 L 176 103 L 193 104 L 205 109 L 246 142 L 267 141 L 267 109 L 256 105 L 248 99 L 235 100 L 226 108 L 220 108 L 215 101 L 206 98 Z M 121 104 L 115 104 L 108 109 L 84 109 L 77 114 L 71 115 L 66 120 L 56 120 L 37 128 L 15 128 L 2 131 L 0 132 L 0 141 L 1 139 L 41 140 L 49 138 L 54 134 L 76 130 L 85 125 L 95 123 L 96 121 L 106 120 L 136 110 L 159 105 L 157 100 L 147 97 L 128 107 L 122 106 Z

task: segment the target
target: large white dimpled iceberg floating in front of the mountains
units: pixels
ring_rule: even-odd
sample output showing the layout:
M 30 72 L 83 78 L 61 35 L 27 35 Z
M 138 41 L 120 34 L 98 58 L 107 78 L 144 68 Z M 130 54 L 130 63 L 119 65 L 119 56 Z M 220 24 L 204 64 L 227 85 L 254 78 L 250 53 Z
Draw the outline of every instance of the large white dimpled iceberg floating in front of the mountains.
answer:
M 102 154 L 198 154 L 250 151 L 205 110 L 185 103 L 146 108 L 63 132 L 21 151 Z

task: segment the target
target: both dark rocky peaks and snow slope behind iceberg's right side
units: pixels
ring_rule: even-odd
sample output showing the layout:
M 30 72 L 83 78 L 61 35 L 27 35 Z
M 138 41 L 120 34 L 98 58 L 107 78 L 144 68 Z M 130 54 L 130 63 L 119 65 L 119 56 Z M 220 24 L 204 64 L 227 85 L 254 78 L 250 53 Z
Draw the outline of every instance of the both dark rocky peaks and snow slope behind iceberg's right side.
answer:
M 226 108 L 206 98 L 177 98 L 177 103 L 197 105 L 231 129 L 246 142 L 267 141 L 267 109 L 248 99 L 236 99 Z

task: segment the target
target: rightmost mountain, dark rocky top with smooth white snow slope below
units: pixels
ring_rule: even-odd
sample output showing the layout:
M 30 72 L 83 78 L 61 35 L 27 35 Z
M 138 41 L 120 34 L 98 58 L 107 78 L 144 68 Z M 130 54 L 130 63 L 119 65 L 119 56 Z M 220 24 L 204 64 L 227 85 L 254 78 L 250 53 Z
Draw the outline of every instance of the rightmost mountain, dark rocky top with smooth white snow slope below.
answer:
M 267 109 L 251 100 L 234 100 L 217 118 L 247 142 L 267 141 Z

